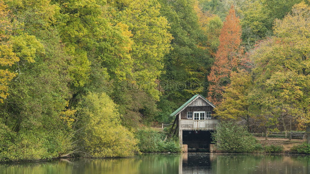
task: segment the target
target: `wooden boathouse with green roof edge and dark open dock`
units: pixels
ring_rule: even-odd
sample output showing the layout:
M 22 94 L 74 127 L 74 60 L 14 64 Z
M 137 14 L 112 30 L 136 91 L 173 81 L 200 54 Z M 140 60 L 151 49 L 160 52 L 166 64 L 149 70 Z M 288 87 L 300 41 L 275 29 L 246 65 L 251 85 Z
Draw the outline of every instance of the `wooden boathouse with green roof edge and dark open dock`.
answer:
M 209 100 L 196 94 L 170 114 L 170 116 L 175 116 L 171 130 L 175 126 L 174 132 L 179 131 L 182 148 L 187 147 L 188 151 L 210 151 L 212 148 L 211 133 L 219 124 L 219 120 L 213 116 L 214 108 L 215 105 Z

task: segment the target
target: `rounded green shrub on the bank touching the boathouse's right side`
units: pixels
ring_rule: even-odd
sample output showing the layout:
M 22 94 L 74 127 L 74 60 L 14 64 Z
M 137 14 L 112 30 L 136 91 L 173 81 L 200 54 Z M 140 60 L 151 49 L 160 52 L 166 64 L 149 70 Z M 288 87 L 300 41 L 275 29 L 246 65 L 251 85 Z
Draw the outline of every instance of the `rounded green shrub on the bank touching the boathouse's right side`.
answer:
M 249 153 L 260 150 L 261 145 L 245 127 L 233 122 L 222 121 L 212 133 L 213 141 L 219 142 L 218 149 L 233 153 Z

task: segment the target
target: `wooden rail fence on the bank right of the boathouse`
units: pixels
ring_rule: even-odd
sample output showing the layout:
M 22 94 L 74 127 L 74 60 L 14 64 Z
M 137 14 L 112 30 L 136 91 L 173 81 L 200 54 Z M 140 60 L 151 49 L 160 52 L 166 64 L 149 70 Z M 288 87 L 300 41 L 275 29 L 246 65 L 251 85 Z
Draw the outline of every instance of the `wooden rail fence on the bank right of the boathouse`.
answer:
M 288 139 L 307 139 L 306 132 L 269 132 L 266 133 L 252 133 L 256 137 L 265 137 L 265 138 L 288 138 Z

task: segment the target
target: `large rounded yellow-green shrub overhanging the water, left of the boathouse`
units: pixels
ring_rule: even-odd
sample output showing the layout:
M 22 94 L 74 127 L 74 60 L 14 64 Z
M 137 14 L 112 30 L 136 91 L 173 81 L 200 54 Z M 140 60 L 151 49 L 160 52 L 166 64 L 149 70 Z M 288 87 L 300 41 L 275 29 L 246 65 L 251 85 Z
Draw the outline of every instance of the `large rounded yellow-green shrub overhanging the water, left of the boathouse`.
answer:
M 79 105 L 77 126 L 84 129 L 77 139 L 81 139 L 78 146 L 85 148 L 74 152 L 81 156 L 126 157 L 138 151 L 137 140 L 120 124 L 120 114 L 107 94 L 89 93 Z

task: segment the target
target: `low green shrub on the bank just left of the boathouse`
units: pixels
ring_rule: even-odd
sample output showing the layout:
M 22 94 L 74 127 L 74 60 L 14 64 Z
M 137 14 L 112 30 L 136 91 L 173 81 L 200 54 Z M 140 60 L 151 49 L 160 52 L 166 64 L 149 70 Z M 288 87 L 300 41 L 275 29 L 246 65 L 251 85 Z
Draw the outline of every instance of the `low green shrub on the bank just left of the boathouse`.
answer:
M 165 137 L 165 134 L 153 129 L 140 129 L 135 132 L 141 152 L 180 152 L 179 143 L 173 139 L 164 141 Z

